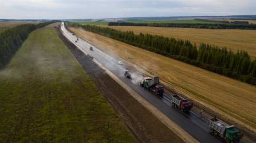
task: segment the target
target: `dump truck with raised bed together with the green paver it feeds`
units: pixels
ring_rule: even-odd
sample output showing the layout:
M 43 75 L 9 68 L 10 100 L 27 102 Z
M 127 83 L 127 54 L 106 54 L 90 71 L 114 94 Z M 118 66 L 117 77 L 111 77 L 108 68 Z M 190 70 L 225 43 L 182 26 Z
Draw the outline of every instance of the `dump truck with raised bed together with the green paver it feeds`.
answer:
M 164 93 L 164 87 L 160 85 L 159 77 L 144 77 L 140 82 L 140 86 L 159 96 Z

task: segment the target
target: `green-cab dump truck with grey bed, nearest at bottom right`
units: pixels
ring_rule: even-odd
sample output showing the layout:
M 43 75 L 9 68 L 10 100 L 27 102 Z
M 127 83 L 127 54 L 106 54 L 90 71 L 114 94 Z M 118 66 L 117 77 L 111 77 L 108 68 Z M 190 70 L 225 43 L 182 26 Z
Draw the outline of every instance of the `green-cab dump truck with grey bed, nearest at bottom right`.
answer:
M 221 137 L 227 143 L 239 142 L 243 137 L 236 126 L 218 121 L 216 117 L 209 120 L 209 127 L 213 135 Z

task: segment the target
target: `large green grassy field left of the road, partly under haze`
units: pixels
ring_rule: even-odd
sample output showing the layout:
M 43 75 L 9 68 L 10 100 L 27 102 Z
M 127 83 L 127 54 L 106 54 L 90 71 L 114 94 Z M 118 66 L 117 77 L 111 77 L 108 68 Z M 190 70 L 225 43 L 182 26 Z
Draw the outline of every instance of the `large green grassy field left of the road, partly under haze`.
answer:
M 0 142 L 134 142 L 52 27 L 0 71 Z

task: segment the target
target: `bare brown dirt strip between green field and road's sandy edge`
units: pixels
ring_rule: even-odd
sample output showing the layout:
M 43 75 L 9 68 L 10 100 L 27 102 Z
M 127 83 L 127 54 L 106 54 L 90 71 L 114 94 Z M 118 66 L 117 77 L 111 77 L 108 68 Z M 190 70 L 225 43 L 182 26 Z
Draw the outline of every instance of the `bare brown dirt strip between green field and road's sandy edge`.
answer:
M 101 93 L 124 119 L 138 142 L 184 142 L 143 105 L 132 98 L 104 70 L 93 63 L 90 57 L 84 55 L 72 43 L 68 42 L 62 34 L 59 33 L 59 35 L 88 75 L 92 76 Z

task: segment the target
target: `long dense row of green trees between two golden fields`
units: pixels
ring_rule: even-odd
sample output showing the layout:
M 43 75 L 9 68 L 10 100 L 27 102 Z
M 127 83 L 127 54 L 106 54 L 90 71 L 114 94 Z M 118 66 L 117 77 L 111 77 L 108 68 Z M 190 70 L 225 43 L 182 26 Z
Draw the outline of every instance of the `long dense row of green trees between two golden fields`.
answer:
M 253 60 L 243 50 L 232 52 L 226 47 L 216 47 L 205 43 L 196 47 L 188 40 L 177 40 L 152 34 L 134 34 L 132 31 L 118 31 L 109 27 L 76 23 L 72 23 L 70 26 L 82 27 L 86 31 L 108 36 L 141 49 L 256 85 L 256 60 Z

